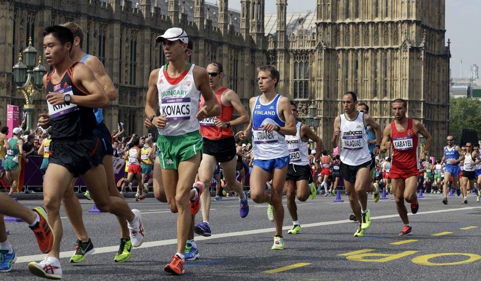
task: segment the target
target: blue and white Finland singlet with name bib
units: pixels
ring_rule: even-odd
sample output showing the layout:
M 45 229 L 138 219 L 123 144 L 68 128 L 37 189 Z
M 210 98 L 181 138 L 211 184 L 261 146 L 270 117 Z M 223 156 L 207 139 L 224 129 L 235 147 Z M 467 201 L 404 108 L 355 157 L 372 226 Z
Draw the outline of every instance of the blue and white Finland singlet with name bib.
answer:
M 280 120 L 277 104 L 281 95 L 269 104 L 262 104 L 258 96 L 252 111 L 252 148 L 254 159 L 268 160 L 288 156 L 288 146 L 285 135 L 276 131 L 263 131 L 261 126 L 266 124 L 285 126 L 285 121 Z

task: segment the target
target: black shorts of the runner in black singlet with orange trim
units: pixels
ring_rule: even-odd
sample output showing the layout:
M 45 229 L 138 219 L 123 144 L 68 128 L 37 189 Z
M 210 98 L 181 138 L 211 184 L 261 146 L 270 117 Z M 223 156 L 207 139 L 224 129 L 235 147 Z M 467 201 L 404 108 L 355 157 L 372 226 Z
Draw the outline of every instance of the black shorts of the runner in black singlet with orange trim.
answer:
M 102 163 L 98 153 L 100 146 L 100 140 L 96 136 L 73 142 L 53 139 L 50 143 L 49 162 L 65 167 L 77 178 Z

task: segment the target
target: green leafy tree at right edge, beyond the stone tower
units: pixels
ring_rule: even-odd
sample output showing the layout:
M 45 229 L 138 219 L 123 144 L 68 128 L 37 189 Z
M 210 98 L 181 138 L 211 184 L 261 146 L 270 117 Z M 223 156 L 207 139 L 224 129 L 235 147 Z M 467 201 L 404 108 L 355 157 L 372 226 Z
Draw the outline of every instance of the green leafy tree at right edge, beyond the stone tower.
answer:
M 449 133 L 461 139 L 463 129 L 477 132 L 481 136 L 481 100 L 451 98 L 449 100 Z

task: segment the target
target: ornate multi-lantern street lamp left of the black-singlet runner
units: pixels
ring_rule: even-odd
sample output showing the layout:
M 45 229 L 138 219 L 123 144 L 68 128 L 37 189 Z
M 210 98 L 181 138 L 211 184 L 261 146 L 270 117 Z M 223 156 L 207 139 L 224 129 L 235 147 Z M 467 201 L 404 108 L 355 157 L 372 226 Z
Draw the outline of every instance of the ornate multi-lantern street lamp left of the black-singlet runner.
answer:
M 23 58 L 25 58 L 25 63 Z M 41 93 L 43 76 L 47 73 L 47 69 L 42 65 L 42 56 L 38 56 L 38 64 L 35 66 L 36 58 L 37 50 L 32 46 L 32 38 L 29 38 L 29 45 L 18 55 L 18 62 L 13 66 L 13 81 L 17 84 L 17 90 L 25 98 L 24 111 L 27 115 L 27 130 L 32 128 L 32 118 L 35 110 L 33 97 L 37 93 Z

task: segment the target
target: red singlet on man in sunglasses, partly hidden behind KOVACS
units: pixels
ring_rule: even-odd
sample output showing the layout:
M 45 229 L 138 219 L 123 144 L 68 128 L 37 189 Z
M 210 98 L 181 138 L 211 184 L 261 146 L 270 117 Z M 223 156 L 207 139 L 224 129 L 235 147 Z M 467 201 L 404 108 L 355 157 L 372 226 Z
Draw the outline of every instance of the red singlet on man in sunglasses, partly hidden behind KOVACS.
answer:
M 209 117 L 200 122 L 201 125 L 201 135 L 208 139 L 222 139 L 234 136 L 234 132 L 229 128 L 218 128 L 214 125 L 215 119 L 221 120 L 222 122 L 227 122 L 232 120 L 233 106 L 225 106 L 222 104 L 222 93 L 227 90 L 226 87 L 220 88 L 216 93 L 215 97 L 217 102 L 221 105 L 221 115 L 215 117 Z M 204 106 L 204 97 L 201 96 L 200 107 Z

